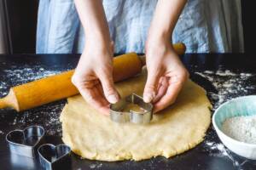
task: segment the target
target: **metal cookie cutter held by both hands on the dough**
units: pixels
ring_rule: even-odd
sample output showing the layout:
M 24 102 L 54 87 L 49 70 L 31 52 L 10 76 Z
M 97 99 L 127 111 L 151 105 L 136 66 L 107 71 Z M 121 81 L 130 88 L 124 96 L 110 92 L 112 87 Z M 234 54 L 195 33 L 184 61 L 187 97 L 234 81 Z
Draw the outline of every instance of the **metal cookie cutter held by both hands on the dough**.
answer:
M 126 105 L 136 104 L 143 109 L 137 112 L 130 110 L 124 112 Z M 131 94 L 125 99 L 121 99 L 118 103 L 110 105 L 110 118 L 113 122 L 133 122 L 137 124 L 148 123 L 151 121 L 153 113 L 153 105 L 145 103 L 143 98 L 137 94 Z

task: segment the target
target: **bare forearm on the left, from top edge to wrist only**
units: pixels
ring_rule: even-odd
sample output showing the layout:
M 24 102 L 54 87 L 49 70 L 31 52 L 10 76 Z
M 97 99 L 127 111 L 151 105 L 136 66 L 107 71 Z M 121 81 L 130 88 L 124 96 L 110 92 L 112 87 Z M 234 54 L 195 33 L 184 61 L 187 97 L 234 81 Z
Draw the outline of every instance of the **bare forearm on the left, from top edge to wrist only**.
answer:
M 79 18 L 84 26 L 85 41 L 111 42 L 102 0 L 75 0 Z

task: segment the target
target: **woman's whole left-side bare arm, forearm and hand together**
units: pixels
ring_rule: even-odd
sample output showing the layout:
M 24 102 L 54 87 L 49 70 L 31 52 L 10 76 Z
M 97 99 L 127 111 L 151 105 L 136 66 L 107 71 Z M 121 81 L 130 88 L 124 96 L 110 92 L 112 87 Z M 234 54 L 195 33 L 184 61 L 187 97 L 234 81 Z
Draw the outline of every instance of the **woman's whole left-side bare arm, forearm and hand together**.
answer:
M 85 47 L 72 82 L 84 99 L 103 114 L 119 94 L 113 87 L 113 43 L 102 0 L 75 0 L 84 26 Z

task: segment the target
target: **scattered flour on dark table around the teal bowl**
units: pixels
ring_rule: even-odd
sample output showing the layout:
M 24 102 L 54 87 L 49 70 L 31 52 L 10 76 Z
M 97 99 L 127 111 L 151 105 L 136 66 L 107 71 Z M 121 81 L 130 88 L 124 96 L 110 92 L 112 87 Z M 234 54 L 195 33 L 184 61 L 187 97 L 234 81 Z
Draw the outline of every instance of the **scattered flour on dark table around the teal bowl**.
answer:
M 216 88 L 216 93 L 207 93 L 212 101 L 212 111 L 215 111 L 219 105 L 229 99 L 256 94 L 256 74 L 250 72 L 218 70 L 195 72 L 195 74 L 206 78 Z M 242 167 L 247 163 L 252 164 L 252 162 L 231 153 L 220 141 L 218 143 L 214 142 L 213 135 L 216 135 L 216 133 L 211 126 L 203 142 L 203 147 L 210 156 L 224 157 L 230 160 L 237 169 L 243 169 Z

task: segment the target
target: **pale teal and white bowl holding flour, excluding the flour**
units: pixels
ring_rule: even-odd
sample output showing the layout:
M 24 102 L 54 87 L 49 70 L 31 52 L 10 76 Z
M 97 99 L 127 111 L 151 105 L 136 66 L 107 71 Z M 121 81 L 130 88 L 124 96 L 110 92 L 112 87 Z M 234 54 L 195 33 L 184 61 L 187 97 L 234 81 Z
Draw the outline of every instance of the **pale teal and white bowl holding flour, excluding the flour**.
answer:
M 256 115 L 256 95 L 238 97 L 230 99 L 220 105 L 212 116 L 212 124 L 218 138 L 222 143 L 239 156 L 256 160 L 256 144 L 247 144 L 236 139 L 232 139 L 222 132 L 223 122 L 234 116 Z

